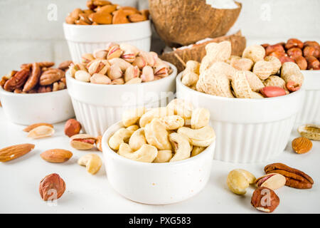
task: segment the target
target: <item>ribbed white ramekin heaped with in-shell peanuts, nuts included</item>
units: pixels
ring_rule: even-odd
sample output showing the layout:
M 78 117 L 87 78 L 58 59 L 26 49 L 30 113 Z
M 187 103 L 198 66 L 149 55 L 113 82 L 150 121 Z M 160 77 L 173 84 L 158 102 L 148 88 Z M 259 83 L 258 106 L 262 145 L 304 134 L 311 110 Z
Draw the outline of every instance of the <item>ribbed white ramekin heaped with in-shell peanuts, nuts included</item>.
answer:
M 231 56 L 230 42 L 210 43 L 201 63 L 188 61 L 176 78 L 177 98 L 210 110 L 217 133 L 215 160 L 254 163 L 279 155 L 287 145 L 304 97 L 296 63 L 265 57 L 248 46 Z

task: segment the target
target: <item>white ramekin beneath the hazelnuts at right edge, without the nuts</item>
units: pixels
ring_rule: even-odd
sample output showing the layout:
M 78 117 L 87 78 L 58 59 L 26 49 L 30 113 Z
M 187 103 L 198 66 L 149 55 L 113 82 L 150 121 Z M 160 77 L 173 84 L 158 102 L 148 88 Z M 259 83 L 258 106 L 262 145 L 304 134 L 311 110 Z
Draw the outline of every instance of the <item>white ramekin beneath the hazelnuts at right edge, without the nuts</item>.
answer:
M 306 90 L 304 100 L 296 123 L 320 124 L 320 71 L 302 71 L 304 74 L 303 88 Z

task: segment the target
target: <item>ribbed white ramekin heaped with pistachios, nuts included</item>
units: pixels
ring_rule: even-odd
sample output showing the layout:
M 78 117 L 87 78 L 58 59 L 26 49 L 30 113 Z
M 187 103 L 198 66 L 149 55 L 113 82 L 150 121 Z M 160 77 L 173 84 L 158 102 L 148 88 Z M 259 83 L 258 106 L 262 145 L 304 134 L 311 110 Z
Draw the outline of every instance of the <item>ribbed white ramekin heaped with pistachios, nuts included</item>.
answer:
M 166 105 L 174 98 L 177 70 L 154 52 L 110 43 L 82 55 L 66 79 L 77 119 L 85 132 L 102 135 L 123 110 Z M 85 91 L 85 92 L 84 92 Z

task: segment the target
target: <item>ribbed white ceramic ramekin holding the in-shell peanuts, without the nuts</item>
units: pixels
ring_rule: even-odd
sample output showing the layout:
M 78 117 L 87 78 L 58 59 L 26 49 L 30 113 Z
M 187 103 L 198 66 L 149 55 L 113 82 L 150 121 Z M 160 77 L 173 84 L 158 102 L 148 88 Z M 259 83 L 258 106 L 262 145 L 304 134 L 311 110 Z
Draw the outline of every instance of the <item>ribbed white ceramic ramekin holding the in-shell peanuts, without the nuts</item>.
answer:
M 215 160 L 265 162 L 286 147 L 304 90 L 277 98 L 224 98 L 192 90 L 176 78 L 177 98 L 208 108 L 217 142 Z

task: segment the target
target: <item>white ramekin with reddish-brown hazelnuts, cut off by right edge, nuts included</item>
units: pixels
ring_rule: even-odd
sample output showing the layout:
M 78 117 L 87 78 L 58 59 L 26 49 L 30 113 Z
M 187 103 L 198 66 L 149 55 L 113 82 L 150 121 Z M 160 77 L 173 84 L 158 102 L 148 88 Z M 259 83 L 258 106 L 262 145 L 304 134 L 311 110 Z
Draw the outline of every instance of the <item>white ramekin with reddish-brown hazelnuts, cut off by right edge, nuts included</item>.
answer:
M 304 102 L 297 115 L 296 123 L 316 123 L 320 120 L 320 46 L 317 41 L 300 41 L 290 38 L 287 42 L 263 44 L 267 56 L 279 61 L 297 63 L 304 74 Z

